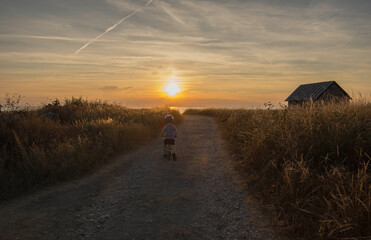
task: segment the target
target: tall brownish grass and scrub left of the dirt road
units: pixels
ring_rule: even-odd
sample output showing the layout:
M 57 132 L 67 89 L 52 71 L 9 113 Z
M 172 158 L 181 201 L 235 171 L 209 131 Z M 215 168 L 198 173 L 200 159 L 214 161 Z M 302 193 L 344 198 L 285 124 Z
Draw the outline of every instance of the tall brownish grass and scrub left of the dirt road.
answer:
M 0 200 L 86 174 L 159 136 L 167 108 L 129 109 L 72 98 L 0 113 Z

